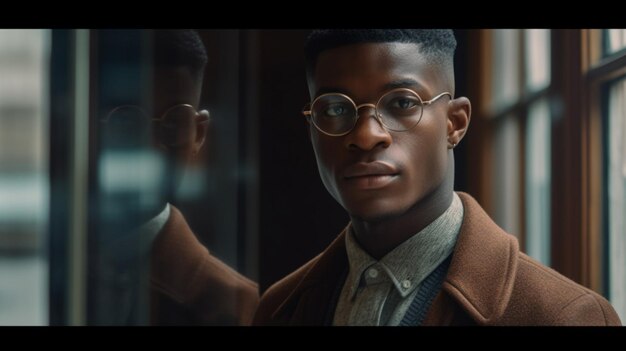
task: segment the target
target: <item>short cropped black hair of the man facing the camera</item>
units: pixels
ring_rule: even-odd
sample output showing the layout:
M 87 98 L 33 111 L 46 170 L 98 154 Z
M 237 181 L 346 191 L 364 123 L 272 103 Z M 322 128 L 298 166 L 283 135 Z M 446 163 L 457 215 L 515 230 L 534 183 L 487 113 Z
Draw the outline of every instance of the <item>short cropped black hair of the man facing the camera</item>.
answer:
M 420 44 L 431 62 L 452 65 L 456 39 L 451 29 L 324 29 L 309 34 L 304 51 L 307 73 L 315 71 L 317 57 L 323 51 L 359 43 L 414 43 Z

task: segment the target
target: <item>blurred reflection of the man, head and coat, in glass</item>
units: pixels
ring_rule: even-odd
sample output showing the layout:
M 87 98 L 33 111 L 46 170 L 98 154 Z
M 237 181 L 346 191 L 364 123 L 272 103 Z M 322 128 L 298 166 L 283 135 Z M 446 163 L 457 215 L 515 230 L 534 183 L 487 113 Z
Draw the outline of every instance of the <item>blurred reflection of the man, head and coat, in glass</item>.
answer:
M 146 314 L 151 324 L 249 324 L 258 303 L 257 285 L 210 255 L 181 212 L 169 204 L 209 127 L 209 112 L 197 110 L 207 63 L 204 45 L 195 31 L 149 33 L 153 59 L 147 67 L 152 74 L 142 82 L 146 92 L 137 100 L 143 103 L 119 104 L 103 118 L 109 151 L 103 153 L 101 172 L 102 178 L 111 179 L 115 170 L 125 169 L 126 174 L 139 174 L 122 181 L 134 182 L 129 187 L 157 186 L 141 196 L 116 200 L 134 199 L 134 206 L 125 203 L 123 215 L 132 212 L 132 219 L 122 226 L 138 229 L 104 245 L 103 256 L 115 263 L 109 274 L 120 288 L 101 307 L 121 310 L 108 319 L 113 324 L 144 324 Z M 117 306 L 107 306 L 111 303 Z

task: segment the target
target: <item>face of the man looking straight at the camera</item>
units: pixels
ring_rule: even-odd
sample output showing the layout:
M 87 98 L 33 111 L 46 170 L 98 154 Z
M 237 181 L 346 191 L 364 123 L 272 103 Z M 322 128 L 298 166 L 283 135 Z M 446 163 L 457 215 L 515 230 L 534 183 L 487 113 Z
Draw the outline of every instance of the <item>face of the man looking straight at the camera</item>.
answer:
M 438 70 L 416 44 L 355 44 L 318 56 L 309 91 L 311 100 L 337 92 L 361 105 L 406 87 L 426 101 L 449 90 Z M 376 221 L 402 215 L 442 184 L 448 169 L 448 101 L 424 106 L 419 124 L 404 132 L 385 130 L 369 107 L 359 109 L 347 135 L 328 136 L 310 126 L 322 182 L 352 217 Z

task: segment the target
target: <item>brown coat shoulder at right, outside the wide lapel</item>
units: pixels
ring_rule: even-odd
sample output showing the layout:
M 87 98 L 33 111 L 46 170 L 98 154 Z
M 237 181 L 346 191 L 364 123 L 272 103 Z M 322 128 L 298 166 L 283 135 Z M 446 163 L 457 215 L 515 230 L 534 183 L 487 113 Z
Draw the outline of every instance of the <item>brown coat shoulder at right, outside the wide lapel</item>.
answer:
M 515 285 L 501 324 L 621 325 L 604 297 L 523 253 L 518 259 Z

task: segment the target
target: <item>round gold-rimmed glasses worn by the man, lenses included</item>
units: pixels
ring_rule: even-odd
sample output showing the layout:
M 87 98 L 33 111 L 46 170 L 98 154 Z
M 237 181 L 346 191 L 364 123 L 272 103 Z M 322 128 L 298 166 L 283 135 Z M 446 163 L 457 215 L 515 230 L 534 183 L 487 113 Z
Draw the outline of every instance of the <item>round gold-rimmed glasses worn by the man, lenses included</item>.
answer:
M 371 107 L 376 112 L 378 122 L 387 130 L 404 132 L 420 122 L 424 106 L 445 95 L 452 99 L 452 94 L 443 92 L 428 101 L 423 101 L 415 91 L 398 88 L 381 96 L 376 105 L 357 106 L 347 95 L 329 93 L 320 95 L 312 103 L 305 105 L 302 113 L 310 118 L 320 132 L 330 136 L 341 136 L 352 131 L 359 119 L 358 111 L 361 107 Z

